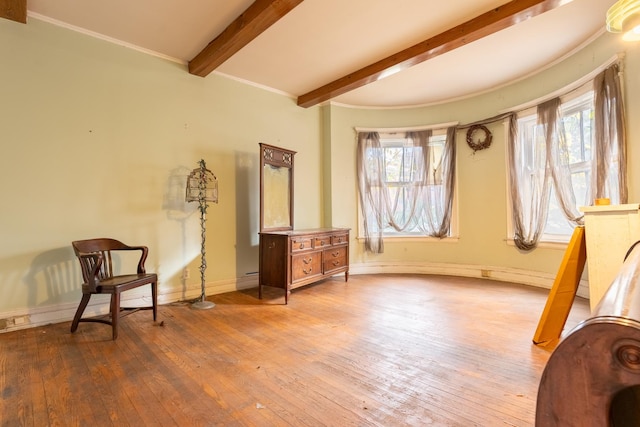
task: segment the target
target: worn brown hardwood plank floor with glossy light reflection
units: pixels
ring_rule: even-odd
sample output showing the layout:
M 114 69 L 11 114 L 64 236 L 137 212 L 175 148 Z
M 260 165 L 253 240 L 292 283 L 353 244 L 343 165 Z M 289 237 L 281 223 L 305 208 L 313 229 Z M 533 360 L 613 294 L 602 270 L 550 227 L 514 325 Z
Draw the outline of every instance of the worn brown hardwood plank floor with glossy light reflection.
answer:
M 531 426 L 548 291 L 342 276 L 0 334 L 2 426 Z M 576 298 L 565 331 L 589 316 Z

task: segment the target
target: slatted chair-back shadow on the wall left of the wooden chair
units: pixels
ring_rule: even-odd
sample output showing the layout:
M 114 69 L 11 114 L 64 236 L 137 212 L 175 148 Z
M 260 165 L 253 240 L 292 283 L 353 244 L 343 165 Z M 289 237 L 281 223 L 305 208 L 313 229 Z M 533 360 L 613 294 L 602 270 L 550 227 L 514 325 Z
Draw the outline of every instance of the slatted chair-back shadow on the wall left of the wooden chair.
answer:
M 82 275 L 71 242 L 68 247 L 37 255 L 24 277 L 27 307 L 75 302 L 80 299 Z

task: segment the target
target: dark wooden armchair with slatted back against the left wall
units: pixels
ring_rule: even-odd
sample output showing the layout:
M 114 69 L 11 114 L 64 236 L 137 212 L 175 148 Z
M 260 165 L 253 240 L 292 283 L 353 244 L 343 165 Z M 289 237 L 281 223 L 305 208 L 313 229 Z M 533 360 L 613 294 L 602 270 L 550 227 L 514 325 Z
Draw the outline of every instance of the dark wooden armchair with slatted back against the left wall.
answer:
M 73 250 L 80 261 L 82 269 L 82 300 L 71 323 L 71 332 L 78 329 L 80 322 L 99 322 L 111 325 L 113 339 L 118 337 L 118 319 L 121 311 L 128 314 L 137 310 L 153 310 L 153 320 L 156 320 L 158 310 L 156 274 L 145 272 L 144 263 L 149 252 L 146 246 L 128 246 L 114 239 L 90 239 L 77 240 L 71 243 Z M 116 251 L 140 251 L 138 271 L 136 274 L 114 275 L 112 252 Z M 120 307 L 120 294 L 129 289 L 143 285 L 151 285 L 151 307 Z M 110 320 L 105 318 L 82 318 L 82 313 L 87 308 L 89 299 L 93 294 L 111 294 L 111 306 L 109 310 Z

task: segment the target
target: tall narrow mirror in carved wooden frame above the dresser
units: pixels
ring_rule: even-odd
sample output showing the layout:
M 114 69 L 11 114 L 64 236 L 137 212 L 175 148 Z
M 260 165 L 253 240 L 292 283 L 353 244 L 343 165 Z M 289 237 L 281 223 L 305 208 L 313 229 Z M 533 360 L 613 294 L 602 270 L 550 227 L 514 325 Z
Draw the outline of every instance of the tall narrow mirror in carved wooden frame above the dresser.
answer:
M 293 156 L 260 143 L 260 231 L 293 229 Z

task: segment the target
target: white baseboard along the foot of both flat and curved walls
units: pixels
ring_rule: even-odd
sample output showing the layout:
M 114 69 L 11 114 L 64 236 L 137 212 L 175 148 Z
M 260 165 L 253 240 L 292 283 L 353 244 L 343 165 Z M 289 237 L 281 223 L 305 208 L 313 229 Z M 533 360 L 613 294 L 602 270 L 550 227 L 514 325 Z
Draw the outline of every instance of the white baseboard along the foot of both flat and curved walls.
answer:
M 503 282 L 519 283 L 551 289 L 555 275 L 537 271 L 520 270 L 506 267 L 478 266 L 463 264 L 437 264 L 418 262 L 376 262 L 351 264 L 349 274 L 434 274 L 445 276 L 477 277 Z M 235 280 L 221 280 L 206 285 L 207 295 L 216 295 L 258 286 L 258 276 L 252 275 Z M 201 295 L 199 284 L 188 284 L 183 288 L 158 290 L 158 304 L 169 304 L 177 301 L 190 301 Z M 580 281 L 577 295 L 589 298 L 589 283 Z M 126 293 L 122 296 L 121 304 L 125 306 L 150 305 L 151 297 L 146 293 Z M 0 333 L 19 329 L 33 328 L 52 323 L 68 322 L 73 319 L 78 303 L 65 303 L 34 307 L 23 310 L 12 310 L 0 313 Z M 92 298 L 85 310 L 85 317 L 100 316 L 109 312 L 109 297 L 99 295 Z

